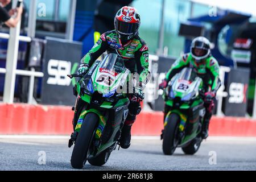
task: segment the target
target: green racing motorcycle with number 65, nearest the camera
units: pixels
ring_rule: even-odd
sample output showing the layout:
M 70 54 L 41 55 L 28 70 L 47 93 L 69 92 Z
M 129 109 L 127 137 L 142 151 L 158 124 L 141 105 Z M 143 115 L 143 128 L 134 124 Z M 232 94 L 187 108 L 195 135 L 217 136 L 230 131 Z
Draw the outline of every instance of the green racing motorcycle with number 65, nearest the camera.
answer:
M 122 92 L 129 73 L 123 59 L 110 53 L 104 60 L 95 61 L 85 76 L 68 75 L 80 77 L 74 90 L 84 102 L 73 139 L 69 140 L 69 147 L 75 143 L 73 168 L 83 168 L 86 161 L 102 166 L 117 147 L 130 103 L 127 93 Z

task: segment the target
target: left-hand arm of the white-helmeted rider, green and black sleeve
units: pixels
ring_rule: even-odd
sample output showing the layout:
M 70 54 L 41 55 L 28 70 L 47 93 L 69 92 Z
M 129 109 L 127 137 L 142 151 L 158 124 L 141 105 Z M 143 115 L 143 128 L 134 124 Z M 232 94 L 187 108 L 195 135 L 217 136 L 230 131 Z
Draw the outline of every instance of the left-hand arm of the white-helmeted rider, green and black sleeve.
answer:
M 174 64 L 172 64 L 171 69 L 168 71 L 166 75 L 167 83 L 171 80 L 172 77 L 174 77 L 174 75 L 176 75 L 176 73 L 179 73 L 184 67 L 187 67 L 188 64 L 189 64 L 188 54 L 185 54 L 183 57 L 180 57 L 179 59 L 177 59 L 174 62 Z

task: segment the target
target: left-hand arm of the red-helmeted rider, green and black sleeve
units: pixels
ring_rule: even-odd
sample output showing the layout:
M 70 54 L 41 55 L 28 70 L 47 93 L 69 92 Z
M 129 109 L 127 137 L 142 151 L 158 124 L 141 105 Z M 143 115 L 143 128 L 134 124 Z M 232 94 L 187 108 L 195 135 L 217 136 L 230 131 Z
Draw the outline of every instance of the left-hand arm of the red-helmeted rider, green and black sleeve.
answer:
M 93 46 L 93 48 L 90 49 L 90 51 L 84 57 L 82 57 L 81 64 L 88 64 L 89 67 L 91 67 L 94 61 L 96 61 L 98 57 L 100 57 L 102 53 L 106 51 L 107 48 L 108 48 L 108 43 L 106 42 L 106 33 L 105 33 L 100 36 L 100 39 L 98 39 L 98 41 Z

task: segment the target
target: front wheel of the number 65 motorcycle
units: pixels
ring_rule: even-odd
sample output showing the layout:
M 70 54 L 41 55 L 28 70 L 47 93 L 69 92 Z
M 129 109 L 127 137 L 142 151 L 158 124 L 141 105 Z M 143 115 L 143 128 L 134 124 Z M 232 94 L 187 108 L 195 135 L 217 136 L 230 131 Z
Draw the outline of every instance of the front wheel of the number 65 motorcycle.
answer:
M 92 144 L 94 133 L 98 125 L 98 115 L 88 113 L 77 136 L 71 156 L 71 166 L 76 169 L 84 167 L 89 155 L 89 147 Z

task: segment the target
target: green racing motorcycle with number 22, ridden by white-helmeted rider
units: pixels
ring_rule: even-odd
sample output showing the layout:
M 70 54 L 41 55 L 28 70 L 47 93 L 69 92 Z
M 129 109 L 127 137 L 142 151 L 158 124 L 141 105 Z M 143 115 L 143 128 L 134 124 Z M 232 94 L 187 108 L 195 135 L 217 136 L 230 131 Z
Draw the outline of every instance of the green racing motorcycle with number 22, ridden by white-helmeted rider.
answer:
M 164 89 L 163 99 L 168 113 L 161 139 L 165 155 L 174 154 L 177 147 L 189 155 L 199 150 L 205 115 L 203 93 L 203 80 L 193 68 L 183 68 Z

